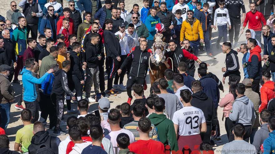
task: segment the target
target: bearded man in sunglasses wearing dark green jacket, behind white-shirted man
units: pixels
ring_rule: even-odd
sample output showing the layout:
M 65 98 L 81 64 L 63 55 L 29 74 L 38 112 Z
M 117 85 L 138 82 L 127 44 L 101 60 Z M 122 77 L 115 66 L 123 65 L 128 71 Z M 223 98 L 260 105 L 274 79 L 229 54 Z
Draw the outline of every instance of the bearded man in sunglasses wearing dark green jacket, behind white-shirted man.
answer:
M 138 39 L 140 39 L 140 37 L 142 36 L 147 38 L 149 36 L 149 31 L 144 25 L 144 23 L 138 20 L 138 14 L 133 13 L 131 19 L 132 21 L 130 23 L 134 24 L 135 32 L 138 35 Z M 125 28 L 127 29 L 128 25 Z

